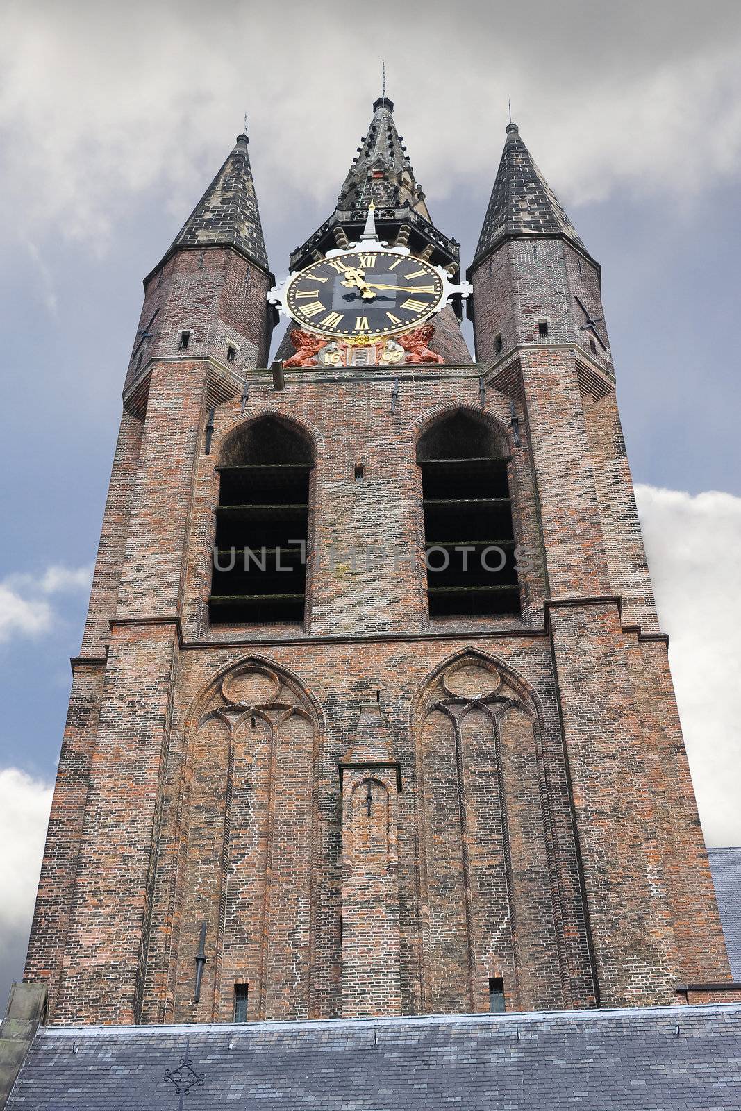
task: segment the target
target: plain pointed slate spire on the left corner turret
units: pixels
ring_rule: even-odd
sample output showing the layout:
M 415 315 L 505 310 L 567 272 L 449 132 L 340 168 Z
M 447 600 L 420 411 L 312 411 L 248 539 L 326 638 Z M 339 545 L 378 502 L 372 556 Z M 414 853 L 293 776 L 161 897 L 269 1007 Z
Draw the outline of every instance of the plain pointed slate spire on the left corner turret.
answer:
M 171 250 L 231 246 L 269 270 L 248 141 L 246 134 L 238 136 L 234 149 L 176 236 Z

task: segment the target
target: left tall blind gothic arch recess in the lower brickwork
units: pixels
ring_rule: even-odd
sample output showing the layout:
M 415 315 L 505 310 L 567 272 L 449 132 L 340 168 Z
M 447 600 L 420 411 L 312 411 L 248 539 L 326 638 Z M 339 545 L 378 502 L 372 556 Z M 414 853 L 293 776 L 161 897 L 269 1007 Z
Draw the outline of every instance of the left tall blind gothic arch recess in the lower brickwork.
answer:
M 248 984 L 249 1019 L 307 1018 L 317 704 L 249 659 L 209 685 L 190 721 L 174 1020 L 230 1021 L 236 984 Z

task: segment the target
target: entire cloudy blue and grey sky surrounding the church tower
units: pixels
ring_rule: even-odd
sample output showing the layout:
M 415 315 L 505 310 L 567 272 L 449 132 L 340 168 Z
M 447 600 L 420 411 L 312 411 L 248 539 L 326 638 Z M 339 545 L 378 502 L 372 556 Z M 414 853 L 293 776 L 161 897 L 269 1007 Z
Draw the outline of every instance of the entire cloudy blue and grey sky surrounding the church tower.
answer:
M 741 843 L 741 6 L 6 0 L 0 1008 L 20 977 L 141 279 L 249 114 L 271 264 L 333 207 L 385 58 L 472 256 L 507 123 L 590 251 L 705 837 Z

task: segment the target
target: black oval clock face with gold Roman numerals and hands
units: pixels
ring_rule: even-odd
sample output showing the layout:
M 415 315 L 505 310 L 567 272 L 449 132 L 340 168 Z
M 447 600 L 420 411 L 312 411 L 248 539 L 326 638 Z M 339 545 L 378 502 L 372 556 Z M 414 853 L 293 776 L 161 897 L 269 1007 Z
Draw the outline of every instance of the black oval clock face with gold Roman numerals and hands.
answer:
M 302 270 L 286 292 L 286 308 L 320 336 L 390 336 L 415 328 L 442 308 L 443 281 L 410 254 L 352 251 Z

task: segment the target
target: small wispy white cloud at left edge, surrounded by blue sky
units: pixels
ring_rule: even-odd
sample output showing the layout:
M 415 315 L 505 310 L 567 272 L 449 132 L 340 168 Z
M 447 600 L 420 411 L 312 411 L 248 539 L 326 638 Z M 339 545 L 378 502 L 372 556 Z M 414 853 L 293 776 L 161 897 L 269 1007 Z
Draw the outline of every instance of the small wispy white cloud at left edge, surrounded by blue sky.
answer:
M 0 641 L 14 634 L 37 637 L 53 624 L 47 597 L 90 585 L 92 568 L 52 564 L 38 575 L 10 574 L 0 582 Z

